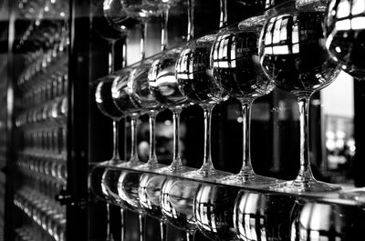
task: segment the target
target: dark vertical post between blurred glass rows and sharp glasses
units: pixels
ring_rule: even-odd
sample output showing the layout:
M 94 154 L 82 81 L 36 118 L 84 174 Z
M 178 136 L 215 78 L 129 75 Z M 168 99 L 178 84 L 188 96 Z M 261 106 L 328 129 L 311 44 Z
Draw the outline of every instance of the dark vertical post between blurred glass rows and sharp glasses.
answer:
M 67 191 L 78 203 L 87 200 L 89 166 L 89 0 L 69 0 Z M 67 240 L 88 240 L 86 206 L 67 205 Z

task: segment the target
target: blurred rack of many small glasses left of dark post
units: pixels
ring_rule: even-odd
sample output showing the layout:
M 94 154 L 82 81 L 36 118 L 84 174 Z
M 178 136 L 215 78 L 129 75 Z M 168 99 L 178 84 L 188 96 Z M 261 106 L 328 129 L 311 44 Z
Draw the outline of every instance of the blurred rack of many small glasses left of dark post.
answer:
M 16 240 L 66 240 L 68 23 L 48 17 L 16 23 Z

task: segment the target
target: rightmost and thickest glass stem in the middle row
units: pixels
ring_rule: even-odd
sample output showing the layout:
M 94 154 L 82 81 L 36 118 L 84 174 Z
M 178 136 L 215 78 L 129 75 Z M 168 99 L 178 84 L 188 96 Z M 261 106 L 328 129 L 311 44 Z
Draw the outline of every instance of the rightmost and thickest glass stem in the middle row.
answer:
M 300 167 L 297 180 L 299 182 L 306 182 L 313 180 L 312 170 L 310 169 L 309 161 L 309 143 L 308 143 L 308 108 L 309 97 L 299 97 L 297 99 L 297 105 L 299 105 L 299 118 L 300 118 Z

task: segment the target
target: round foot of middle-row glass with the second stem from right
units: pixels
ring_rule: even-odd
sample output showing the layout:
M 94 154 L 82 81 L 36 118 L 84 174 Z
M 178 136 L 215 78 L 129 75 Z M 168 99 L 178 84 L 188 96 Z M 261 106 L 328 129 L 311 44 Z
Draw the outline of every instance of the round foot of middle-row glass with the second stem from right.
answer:
M 277 183 L 278 180 L 273 177 L 259 176 L 255 174 L 250 174 L 250 175 L 237 174 L 232 176 L 225 176 L 224 178 L 218 180 L 218 182 L 227 185 L 258 187 L 258 186 L 273 185 Z

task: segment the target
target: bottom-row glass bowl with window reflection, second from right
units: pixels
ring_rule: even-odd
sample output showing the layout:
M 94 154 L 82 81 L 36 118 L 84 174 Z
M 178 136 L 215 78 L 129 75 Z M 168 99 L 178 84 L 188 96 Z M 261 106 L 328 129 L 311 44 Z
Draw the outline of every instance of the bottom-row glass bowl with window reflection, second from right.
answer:
M 290 240 L 291 196 L 241 191 L 235 199 L 235 232 L 242 240 Z

